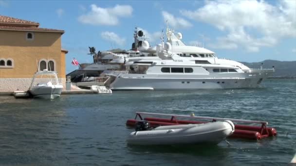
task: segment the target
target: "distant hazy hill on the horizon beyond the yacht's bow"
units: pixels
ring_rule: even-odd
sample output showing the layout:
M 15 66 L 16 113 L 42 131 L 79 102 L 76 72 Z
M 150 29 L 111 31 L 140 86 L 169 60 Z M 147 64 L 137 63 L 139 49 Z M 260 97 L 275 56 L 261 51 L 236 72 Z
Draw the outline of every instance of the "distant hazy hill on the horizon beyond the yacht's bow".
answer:
M 263 62 L 241 63 L 250 68 L 260 68 L 261 63 L 263 63 L 262 68 L 272 68 L 272 66 L 275 66 L 276 71 L 273 77 L 296 78 L 296 61 L 265 60 Z

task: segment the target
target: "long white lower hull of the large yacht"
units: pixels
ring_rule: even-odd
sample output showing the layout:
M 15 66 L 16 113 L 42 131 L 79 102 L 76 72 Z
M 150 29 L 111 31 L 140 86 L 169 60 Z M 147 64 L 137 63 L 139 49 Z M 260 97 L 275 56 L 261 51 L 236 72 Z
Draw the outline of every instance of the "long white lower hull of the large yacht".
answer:
M 225 76 L 123 74 L 110 87 L 112 90 L 233 89 L 255 88 L 273 72 L 238 73 Z

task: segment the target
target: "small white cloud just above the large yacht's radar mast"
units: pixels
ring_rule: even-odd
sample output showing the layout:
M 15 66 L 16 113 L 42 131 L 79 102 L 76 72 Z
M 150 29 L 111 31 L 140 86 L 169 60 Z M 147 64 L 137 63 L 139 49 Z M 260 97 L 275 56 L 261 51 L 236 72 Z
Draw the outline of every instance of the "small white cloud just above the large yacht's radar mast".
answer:
M 164 17 L 165 22 L 167 21 L 168 25 L 172 26 L 173 28 L 189 28 L 192 27 L 192 24 L 181 17 L 174 17 L 172 14 L 163 11 L 162 15 Z

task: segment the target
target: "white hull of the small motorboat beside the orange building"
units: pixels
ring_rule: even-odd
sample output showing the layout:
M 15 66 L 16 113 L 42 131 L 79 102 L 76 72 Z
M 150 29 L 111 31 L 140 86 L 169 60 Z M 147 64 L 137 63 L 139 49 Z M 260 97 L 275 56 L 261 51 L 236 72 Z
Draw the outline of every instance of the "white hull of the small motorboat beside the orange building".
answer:
M 37 85 L 33 86 L 29 91 L 34 98 L 55 99 L 60 97 L 62 90 L 62 85 Z

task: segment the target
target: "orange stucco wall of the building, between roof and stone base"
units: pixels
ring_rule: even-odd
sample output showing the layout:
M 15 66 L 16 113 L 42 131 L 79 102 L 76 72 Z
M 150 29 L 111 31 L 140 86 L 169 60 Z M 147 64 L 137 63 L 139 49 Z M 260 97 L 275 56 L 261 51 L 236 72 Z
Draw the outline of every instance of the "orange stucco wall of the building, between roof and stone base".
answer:
M 13 68 L 0 68 L 0 78 L 28 78 L 37 71 L 37 61 L 54 59 L 59 78 L 65 78 L 65 53 L 61 52 L 61 33 L 32 32 L 33 40 L 26 39 L 28 32 L 0 30 L 0 58 L 12 58 Z

